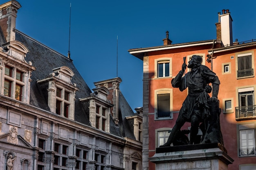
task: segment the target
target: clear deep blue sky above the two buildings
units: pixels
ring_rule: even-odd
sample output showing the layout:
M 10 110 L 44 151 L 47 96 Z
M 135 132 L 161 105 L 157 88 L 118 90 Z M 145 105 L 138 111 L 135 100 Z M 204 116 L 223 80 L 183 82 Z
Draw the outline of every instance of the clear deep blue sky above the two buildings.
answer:
M 6 1 L 7 2 L 7 1 Z M 216 39 L 218 12 L 229 9 L 233 39 L 256 39 L 255 0 L 18 0 L 16 29 L 67 56 L 90 89 L 117 76 L 131 108 L 142 106 L 143 63 L 127 50 Z M 4 3 L 4 1 L 2 1 Z

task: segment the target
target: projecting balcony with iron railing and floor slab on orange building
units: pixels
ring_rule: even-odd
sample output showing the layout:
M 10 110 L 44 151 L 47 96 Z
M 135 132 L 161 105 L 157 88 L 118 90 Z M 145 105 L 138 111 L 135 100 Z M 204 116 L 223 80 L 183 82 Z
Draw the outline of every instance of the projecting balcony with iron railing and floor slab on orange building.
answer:
M 256 119 L 256 105 L 236 107 L 236 120 Z

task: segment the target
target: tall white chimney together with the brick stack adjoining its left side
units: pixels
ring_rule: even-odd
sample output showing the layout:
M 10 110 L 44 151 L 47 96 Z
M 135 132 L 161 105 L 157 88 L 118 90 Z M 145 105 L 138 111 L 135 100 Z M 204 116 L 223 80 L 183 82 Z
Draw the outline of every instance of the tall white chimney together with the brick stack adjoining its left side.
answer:
M 232 33 L 232 17 L 229 10 L 222 10 L 222 14 L 218 13 L 218 23 L 216 23 L 217 40 L 222 41 L 222 45 L 233 45 L 233 33 Z

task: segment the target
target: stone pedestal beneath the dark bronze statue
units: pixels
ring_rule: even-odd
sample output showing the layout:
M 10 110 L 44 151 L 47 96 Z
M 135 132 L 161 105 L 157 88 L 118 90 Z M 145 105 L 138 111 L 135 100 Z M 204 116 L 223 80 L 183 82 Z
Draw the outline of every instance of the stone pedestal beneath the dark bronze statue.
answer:
M 155 170 L 227 170 L 234 161 L 216 143 L 156 148 L 149 160 L 155 163 Z

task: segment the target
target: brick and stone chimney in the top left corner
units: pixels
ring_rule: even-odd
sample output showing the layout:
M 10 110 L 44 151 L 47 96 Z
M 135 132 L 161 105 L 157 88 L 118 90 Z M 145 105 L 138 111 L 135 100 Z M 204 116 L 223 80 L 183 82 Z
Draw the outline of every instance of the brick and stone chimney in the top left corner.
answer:
M 16 13 L 20 7 L 16 0 L 0 5 L 0 26 L 7 42 L 15 40 Z

